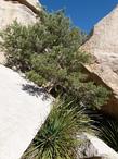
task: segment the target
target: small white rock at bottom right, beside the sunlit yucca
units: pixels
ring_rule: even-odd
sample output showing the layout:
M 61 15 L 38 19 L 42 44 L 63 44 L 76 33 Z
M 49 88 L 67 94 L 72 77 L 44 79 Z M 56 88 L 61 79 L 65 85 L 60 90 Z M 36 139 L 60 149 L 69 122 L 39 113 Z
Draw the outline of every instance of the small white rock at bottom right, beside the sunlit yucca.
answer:
M 84 151 L 84 159 L 118 159 L 118 154 L 108 147 L 100 138 L 84 133 L 81 138 L 84 140 L 79 150 Z

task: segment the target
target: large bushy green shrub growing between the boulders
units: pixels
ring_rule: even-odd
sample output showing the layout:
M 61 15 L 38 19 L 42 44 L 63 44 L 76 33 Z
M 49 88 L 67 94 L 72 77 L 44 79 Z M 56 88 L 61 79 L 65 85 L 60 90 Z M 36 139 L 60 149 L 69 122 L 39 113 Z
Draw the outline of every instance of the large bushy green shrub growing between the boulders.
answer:
M 55 97 L 69 96 L 93 108 L 107 100 L 105 88 L 86 82 L 81 65 L 90 61 L 90 56 L 78 51 L 84 34 L 71 25 L 63 11 L 43 12 L 41 21 L 30 26 L 14 22 L 1 37 L 6 64 Z

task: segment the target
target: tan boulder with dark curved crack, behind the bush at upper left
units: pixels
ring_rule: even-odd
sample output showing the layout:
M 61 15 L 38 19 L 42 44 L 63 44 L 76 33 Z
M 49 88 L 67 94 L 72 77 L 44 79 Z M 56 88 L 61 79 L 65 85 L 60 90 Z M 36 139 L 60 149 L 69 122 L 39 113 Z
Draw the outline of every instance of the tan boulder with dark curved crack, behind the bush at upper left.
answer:
M 14 20 L 23 25 L 34 24 L 38 11 L 40 11 L 38 0 L 0 0 L 0 30 Z M 0 51 L 0 63 L 4 62 L 4 52 Z

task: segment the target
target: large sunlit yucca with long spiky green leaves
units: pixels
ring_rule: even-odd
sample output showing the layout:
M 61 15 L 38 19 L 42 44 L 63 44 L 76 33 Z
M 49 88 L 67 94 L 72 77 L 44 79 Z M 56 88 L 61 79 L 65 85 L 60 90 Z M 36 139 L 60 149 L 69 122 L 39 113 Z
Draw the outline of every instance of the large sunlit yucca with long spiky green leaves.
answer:
M 89 130 L 89 118 L 70 103 L 55 105 L 24 159 L 76 159 L 77 135 Z

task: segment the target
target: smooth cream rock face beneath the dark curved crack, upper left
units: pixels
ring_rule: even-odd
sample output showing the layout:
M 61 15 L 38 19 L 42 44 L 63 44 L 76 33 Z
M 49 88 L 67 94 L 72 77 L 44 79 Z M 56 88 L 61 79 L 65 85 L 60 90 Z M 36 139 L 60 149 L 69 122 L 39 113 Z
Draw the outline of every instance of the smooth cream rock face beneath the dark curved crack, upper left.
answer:
M 25 25 L 36 22 L 36 15 L 30 9 L 13 1 L 0 0 L 0 29 L 3 29 L 14 20 Z

